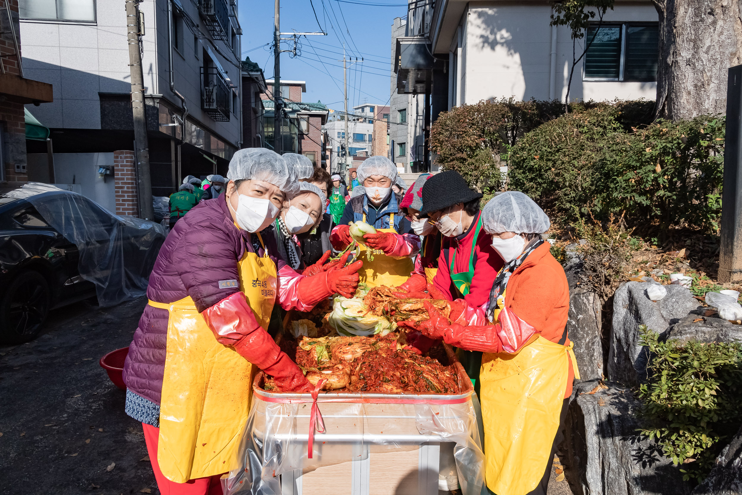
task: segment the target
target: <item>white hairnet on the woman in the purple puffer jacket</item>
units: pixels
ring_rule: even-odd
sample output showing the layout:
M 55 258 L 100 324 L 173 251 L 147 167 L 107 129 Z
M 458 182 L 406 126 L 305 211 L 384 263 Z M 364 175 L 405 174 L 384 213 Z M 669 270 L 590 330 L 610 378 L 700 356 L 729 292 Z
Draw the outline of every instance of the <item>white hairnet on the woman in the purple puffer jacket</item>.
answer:
M 264 180 L 292 196 L 299 191 L 296 175 L 289 171 L 286 160 L 267 148 L 237 150 L 229 162 L 229 180 Z

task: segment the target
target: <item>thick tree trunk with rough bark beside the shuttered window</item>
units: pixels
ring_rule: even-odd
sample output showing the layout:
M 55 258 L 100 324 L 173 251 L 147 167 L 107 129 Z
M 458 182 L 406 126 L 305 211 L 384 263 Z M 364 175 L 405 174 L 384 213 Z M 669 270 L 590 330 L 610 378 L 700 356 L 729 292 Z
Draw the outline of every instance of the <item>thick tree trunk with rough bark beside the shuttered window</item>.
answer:
M 726 112 L 727 69 L 742 63 L 738 0 L 653 0 L 660 17 L 657 117 Z

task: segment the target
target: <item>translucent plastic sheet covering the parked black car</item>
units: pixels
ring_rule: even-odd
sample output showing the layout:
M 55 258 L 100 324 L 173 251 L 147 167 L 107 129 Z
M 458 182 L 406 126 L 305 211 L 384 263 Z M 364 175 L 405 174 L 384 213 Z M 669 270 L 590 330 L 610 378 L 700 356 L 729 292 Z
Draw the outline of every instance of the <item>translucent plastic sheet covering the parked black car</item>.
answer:
M 149 274 L 167 231 L 158 223 L 118 216 L 92 200 L 42 183 L 10 191 L 79 249 L 78 271 L 95 283 L 101 306 L 145 295 Z

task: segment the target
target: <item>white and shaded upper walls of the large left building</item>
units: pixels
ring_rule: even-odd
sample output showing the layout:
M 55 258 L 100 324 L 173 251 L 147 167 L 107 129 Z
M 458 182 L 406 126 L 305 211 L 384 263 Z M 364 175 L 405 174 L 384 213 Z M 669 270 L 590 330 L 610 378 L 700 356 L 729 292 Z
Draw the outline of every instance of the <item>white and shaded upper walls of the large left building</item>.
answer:
M 197 7 L 181 2 L 200 30 L 209 36 L 201 22 Z M 145 36 L 142 36 L 144 54 L 142 69 L 147 94 L 161 94 L 180 108 L 180 99 L 170 91 L 168 67 L 167 0 L 143 0 L 139 10 L 145 16 Z M 182 23 L 182 49 L 173 50 L 175 88 L 186 98 L 188 114 L 235 147 L 240 142 L 240 113 L 230 115 L 229 122 L 214 122 L 201 110 L 200 67 L 203 65 L 203 44 Z M 53 85 L 54 102 L 34 108 L 34 117 L 52 128 L 100 128 L 99 93 L 128 94 L 131 91 L 128 43 L 126 39 L 126 12 L 122 2 L 96 1 L 96 22 L 40 22 L 21 21 L 24 74 L 30 79 Z M 239 58 L 224 42 L 214 42 L 237 64 Z M 217 58 L 232 79 L 239 85 L 237 67 L 220 56 Z M 239 51 L 237 48 L 234 51 Z

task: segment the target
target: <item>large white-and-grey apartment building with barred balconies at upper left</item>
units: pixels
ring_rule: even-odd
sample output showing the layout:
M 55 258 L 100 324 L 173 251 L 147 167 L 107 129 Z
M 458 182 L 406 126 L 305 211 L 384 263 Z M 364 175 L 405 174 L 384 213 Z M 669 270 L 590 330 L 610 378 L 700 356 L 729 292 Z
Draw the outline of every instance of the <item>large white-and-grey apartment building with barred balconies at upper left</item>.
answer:
M 51 128 L 55 159 L 77 155 L 56 160 L 56 180 L 105 181 L 99 165 L 134 149 L 124 4 L 19 7 L 24 68 L 54 88 L 53 103 L 28 108 Z M 186 175 L 226 174 L 243 145 L 237 0 L 143 0 L 139 13 L 152 191 L 167 196 Z

